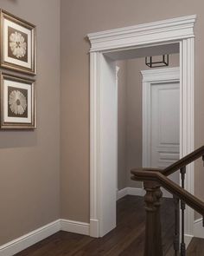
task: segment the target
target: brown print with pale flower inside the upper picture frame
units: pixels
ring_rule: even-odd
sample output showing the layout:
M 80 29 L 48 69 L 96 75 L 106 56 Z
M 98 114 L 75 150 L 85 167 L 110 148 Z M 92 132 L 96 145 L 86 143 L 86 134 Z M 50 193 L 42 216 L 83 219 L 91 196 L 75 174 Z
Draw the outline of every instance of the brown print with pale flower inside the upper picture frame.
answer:
M 28 62 L 28 35 L 8 27 L 8 56 Z

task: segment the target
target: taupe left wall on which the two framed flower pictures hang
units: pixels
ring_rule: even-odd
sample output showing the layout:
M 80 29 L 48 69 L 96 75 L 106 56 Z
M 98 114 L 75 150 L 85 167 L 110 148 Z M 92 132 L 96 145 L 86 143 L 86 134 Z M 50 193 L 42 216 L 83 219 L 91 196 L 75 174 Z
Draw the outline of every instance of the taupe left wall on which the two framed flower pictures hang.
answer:
M 0 245 L 60 218 L 60 1 L 0 0 L 37 26 L 37 129 L 0 132 Z

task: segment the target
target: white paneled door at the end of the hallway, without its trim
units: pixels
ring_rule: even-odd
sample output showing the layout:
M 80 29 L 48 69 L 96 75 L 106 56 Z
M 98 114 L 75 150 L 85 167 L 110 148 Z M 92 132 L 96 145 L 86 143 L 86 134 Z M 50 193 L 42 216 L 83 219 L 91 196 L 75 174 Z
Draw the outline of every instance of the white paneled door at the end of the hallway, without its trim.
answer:
M 179 160 L 179 82 L 151 84 L 150 166 L 165 168 Z M 179 183 L 179 174 L 170 177 Z M 163 196 L 170 194 L 163 189 Z

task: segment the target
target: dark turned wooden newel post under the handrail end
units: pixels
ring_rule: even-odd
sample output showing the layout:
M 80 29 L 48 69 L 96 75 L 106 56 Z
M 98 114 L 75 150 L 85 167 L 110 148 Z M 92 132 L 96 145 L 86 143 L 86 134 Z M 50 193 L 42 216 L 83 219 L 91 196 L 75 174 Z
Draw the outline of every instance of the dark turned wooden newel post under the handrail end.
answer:
M 156 181 L 144 181 L 146 210 L 144 256 L 163 256 L 160 206 L 163 193 Z

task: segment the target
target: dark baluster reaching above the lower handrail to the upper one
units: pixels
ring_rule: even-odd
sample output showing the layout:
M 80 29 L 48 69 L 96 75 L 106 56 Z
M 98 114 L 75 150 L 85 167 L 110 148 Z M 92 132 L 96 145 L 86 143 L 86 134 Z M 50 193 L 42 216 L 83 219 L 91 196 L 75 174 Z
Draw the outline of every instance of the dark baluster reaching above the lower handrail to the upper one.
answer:
M 185 187 L 185 174 L 186 174 L 186 167 L 182 167 L 180 170 L 181 176 L 182 176 L 182 188 Z M 181 210 L 182 210 L 182 243 L 181 243 L 181 256 L 186 256 L 186 244 L 184 240 L 184 227 L 185 227 L 185 213 L 186 204 L 183 200 L 181 200 Z

